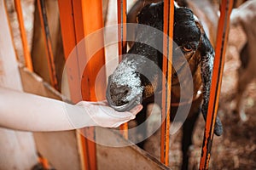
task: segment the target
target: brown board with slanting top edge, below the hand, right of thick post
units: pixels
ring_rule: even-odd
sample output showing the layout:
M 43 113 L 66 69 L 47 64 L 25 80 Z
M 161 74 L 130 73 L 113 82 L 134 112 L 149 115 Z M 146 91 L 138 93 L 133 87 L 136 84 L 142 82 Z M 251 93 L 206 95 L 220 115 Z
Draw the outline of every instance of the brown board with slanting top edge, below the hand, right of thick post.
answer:
M 169 169 L 160 161 L 141 150 L 135 144 L 125 140 L 121 134 L 111 129 L 96 127 L 96 140 L 98 170 L 105 169 Z M 102 141 L 104 140 L 104 141 Z M 104 145 L 102 145 L 104 144 Z M 106 145 L 127 145 L 125 147 L 109 147 Z

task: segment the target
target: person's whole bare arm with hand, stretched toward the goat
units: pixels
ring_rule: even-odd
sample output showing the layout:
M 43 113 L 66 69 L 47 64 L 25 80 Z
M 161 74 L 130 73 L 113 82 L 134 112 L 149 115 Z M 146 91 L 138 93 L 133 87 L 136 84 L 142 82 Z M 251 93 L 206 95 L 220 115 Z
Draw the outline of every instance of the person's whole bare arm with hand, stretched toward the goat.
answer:
M 118 127 L 135 118 L 142 105 L 117 112 L 106 102 L 78 105 L 0 87 L 0 127 L 24 131 L 62 131 L 81 127 Z

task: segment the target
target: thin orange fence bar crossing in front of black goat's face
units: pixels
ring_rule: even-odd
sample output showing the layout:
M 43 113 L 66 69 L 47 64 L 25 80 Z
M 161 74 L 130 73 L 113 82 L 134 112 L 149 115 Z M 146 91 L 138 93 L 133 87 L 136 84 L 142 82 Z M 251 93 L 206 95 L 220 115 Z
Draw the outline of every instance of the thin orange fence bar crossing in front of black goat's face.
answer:
M 170 114 L 172 89 L 172 36 L 174 1 L 164 1 L 163 75 L 162 78 L 162 125 L 160 134 L 160 161 L 169 164 Z

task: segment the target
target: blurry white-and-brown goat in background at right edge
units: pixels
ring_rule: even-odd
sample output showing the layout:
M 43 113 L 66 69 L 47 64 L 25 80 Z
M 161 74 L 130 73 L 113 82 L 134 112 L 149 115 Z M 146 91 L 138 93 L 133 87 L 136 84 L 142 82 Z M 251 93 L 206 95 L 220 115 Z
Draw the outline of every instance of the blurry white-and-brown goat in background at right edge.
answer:
M 230 16 L 230 26 L 241 26 L 247 37 L 247 42 L 240 51 L 241 66 L 238 69 L 238 81 L 236 85 L 237 89 L 235 99 L 236 108 L 234 110 L 234 113 L 240 116 L 242 121 L 247 120 L 247 116 L 242 108 L 242 96 L 247 88 L 247 85 L 256 77 L 256 48 L 254 47 L 254 44 L 256 43 L 256 28 L 254 26 L 254 23 L 256 23 L 255 11 L 256 1 L 247 1 L 239 8 L 233 9 Z

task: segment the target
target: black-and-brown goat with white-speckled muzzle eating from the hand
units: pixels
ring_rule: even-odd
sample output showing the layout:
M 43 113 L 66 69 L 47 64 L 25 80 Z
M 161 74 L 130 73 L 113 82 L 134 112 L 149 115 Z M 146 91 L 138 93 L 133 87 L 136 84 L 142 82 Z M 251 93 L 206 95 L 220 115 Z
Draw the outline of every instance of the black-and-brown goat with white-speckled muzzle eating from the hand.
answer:
M 137 20 L 139 24 L 152 26 L 155 28 L 154 30 L 162 31 L 163 3 L 146 5 L 138 14 Z M 150 61 L 154 62 L 160 68 L 162 65 L 160 48 L 163 48 L 163 34 L 158 31 L 150 32 L 148 27 L 140 28 L 138 26 L 136 41 L 113 74 L 108 77 L 106 97 L 109 105 L 117 111 L 126 111 L 137 103 L 142 103 L 143 111 L 137 115 L 139 124 L 146 119 L 146 105 L 152 102 L 154 95 L 157 95 L 161 89 L 160 71 L 150 63 Z M 178 107 L 185 108 L 187 105 L 191 105 L 188 119 L 183 123 L 182 168 L 187 169 L 188 150 L 189 145 L 192 144 L 191 137 L 195 121 L 200 112 L 205 119 L 207 117 L 214 50 L 193 12 L 189 8 L 181 8 L 177 5 L 174 8 L 173 41 L 175 42 L 172 48 L 173 65 L 176 66 L 172 67 L 172 120 L 175 118 Z M 187 69 L 185 69 L 184 63 L 189 63 Z M 149 75 L 142 74 L 142 72 L 147 74 L 148 71 Z M 188 77 L 188 71 L 192 75 L 191 79 Z M 189 84 L 192 84 L 190 88 L 194 93 L 191 96 L 186 96 L 183 101 L 180 92 L 186 90 L 186 86 Z M 198 93 L 201 90 L 202 94 Z M 192 101 L 189 100 L 191 98 L 193 98 Z M 181 103 L 179 103 L 180 100 Z M 214 133 L 221 135 L 222 132 L 222 124 L 217 118 Z M 145 135 L 145 132 L 139 133 Z M 140 146 L 143 146 L 143 143 Z

